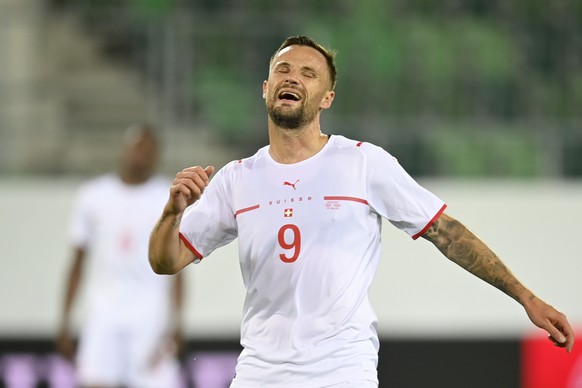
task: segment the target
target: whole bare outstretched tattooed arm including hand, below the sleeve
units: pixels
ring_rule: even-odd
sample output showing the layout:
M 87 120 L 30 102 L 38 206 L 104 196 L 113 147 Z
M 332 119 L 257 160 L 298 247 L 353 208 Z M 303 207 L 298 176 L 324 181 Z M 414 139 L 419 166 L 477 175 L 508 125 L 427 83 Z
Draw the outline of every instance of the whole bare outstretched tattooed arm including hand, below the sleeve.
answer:
M 564 314 L 528 290 L 497 255 L 461 222 L 442 214 L 422 236 L 449 260 L 503 291 L 520 303 L 530 320 L 547 331 L 549 339 L 568 352 L 574 346 L 574 331 Z

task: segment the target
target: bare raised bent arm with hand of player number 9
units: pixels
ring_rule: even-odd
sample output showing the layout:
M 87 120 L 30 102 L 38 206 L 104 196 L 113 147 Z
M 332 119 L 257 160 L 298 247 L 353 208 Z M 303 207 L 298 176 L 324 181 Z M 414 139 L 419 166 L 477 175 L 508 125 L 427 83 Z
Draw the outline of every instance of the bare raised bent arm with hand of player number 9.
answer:
M 175 274 L 194 260 L 179 236 L 184 210 L 198 199 L 214 173 L 214 167 L 188 167 L 172 182 L 170 197 L 150 235 L 149 261 L 158 274 Z

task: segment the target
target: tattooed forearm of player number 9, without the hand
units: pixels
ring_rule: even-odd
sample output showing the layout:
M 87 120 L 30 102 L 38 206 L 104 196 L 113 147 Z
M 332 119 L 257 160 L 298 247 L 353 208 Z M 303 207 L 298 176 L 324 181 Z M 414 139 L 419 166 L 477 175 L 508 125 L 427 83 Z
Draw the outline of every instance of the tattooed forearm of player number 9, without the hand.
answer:
M 459 221 L 443 214 L 422 237 L 452 262 L 519 301 L 520 282 L 497 255 Z

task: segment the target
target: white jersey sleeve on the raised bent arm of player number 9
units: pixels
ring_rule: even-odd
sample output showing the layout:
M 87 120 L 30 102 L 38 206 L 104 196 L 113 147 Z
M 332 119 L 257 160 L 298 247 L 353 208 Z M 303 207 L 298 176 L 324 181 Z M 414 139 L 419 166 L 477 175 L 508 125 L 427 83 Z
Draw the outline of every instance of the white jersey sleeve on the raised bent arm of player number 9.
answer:
M 180 224 L 182 240 L 199 259 L 238 235 L 231 208 L 232 191 L 225 170 L 216 173 L 200 199 L 186 209 Z

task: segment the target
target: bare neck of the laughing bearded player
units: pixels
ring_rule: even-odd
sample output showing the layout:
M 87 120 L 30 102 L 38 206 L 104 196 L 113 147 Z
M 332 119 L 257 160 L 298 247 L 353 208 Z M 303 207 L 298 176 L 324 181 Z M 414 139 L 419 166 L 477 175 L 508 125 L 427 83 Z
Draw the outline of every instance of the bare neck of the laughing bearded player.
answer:
M 299 129 L 269 128 L 269 154 L 276 162 L 293 164 L 309 159 L 325 146 L 329 136 L 319 125 Z

